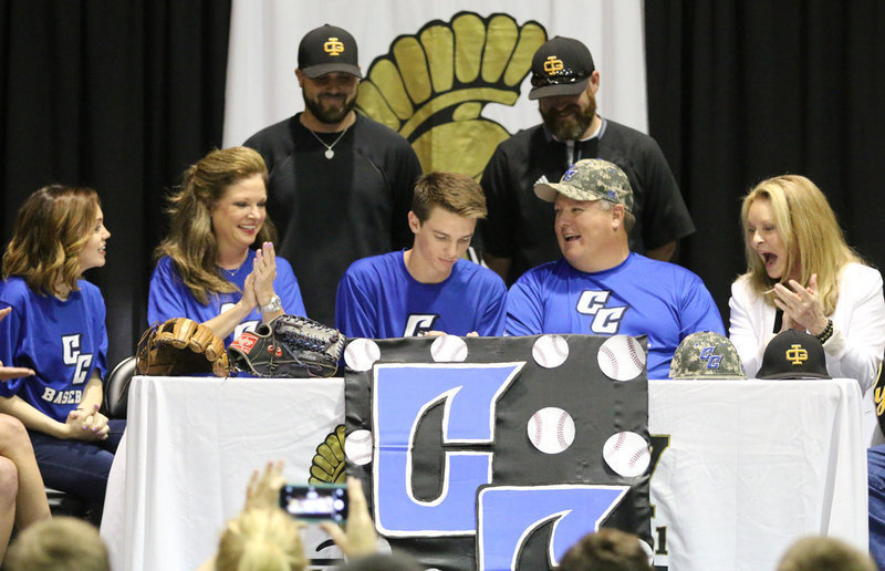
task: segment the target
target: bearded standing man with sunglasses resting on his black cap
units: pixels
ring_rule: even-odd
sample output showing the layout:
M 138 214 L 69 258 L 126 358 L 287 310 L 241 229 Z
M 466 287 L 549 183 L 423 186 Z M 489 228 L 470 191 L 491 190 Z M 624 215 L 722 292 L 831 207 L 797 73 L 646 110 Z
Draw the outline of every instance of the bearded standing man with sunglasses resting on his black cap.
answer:
M 511 284 L 560 257 L 553 210 L 532 187 L 559 180 L 582 158 L 602 158 L 626 173 L 636 217 L 629 248 L 669 260 L 695 226 L 657 143 L 596 114 L 600 72 L 590 50 L 571 38 L 546 41 L 534 53 L 531 83 L 529 98 L 539 100 L 543 123 L 498 145 L 482 174 L 489 214 L 480 236 L 489 268 Z

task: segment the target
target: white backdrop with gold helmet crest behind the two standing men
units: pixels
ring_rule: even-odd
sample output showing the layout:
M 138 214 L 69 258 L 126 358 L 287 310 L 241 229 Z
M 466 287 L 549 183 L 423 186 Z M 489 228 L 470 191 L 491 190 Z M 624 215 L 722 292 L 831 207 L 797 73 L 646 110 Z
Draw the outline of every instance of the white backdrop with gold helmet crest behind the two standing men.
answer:
M 223 146 L 304 108 L 298 44 L 324 23 L 356 39 L 358 112 L 407 138 L 425 172 L 479 177 L 498 143 L 540 123 L 531 59 L 554 35 L 593 53 L 600 113 L 647 131 L 642 15 L 641 0 L 233 0 Z

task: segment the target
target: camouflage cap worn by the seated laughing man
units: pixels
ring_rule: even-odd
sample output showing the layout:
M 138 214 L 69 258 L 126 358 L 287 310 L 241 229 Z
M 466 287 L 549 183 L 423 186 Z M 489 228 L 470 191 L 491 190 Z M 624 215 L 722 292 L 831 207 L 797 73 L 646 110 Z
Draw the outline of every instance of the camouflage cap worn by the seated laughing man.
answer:
M 548 203 L 554 203 L 558 194 L 573 200 L 608 200 L 633 211 L 633 189 L 627 175 L 614 163 L 601 158 L 579 160 L 559 183 L 534 185 L 534 194 Z

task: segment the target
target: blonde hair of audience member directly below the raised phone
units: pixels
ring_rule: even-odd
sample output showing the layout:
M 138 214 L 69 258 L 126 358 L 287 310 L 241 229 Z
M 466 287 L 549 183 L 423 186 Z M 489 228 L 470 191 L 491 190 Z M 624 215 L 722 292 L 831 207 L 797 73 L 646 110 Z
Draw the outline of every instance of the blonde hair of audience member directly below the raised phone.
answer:
M 228 521 L 217 571 L 302 571 L 308 565 L 301 526 L 279 508 L 249 509 Z

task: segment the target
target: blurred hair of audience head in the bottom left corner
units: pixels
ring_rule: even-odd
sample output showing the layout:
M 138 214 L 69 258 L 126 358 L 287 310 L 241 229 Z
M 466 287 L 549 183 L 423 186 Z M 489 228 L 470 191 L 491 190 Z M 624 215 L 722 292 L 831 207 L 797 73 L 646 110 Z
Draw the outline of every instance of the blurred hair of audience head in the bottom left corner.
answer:
M 107 548 L 85 521 L 55 517 L 24 529 L 3 560 L 9 571 L 110 571 Z

